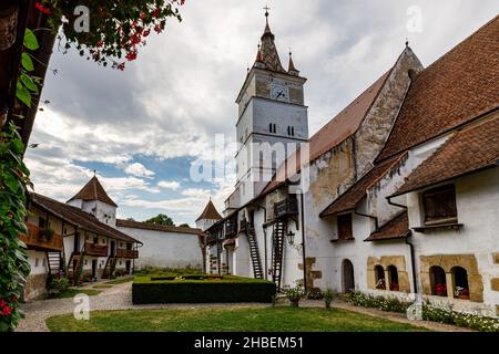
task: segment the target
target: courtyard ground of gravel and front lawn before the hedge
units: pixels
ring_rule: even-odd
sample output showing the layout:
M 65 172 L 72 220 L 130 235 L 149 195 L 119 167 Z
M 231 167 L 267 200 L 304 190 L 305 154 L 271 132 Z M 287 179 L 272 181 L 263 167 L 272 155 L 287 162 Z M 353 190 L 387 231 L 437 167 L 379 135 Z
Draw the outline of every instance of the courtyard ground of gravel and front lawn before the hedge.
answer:
M 82 290 L 89 296 L 90 320 L 73 316 L 73 298 L 24 303 L 26 319 L 18 332 L 467 332 L 436 322 L 407 320 L 403 314 L 356 308 L 336 300 L 330 310 L 323 301 L 287 303 L 132 304 L 132 282 L 101 281 Z M 80 290 L 80 289 L 79 289 Z M 140 311 L 138 311 L 140 310 Z

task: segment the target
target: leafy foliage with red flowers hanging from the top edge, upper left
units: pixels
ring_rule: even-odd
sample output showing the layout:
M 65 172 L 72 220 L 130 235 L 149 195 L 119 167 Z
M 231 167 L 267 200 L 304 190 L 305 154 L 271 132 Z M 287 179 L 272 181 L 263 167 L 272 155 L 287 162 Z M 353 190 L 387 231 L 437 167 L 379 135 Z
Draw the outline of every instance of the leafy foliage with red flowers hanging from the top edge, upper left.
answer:
M 124 70 L 138 58 L 152 33 L 164 31 L 169 18 L 182 21 L 179 6 L 185 0 L 41 0 L 37 8 L 48 15 L 49 27 L 63 51 Z M 77 6 L 78 4 L 78 6 Z

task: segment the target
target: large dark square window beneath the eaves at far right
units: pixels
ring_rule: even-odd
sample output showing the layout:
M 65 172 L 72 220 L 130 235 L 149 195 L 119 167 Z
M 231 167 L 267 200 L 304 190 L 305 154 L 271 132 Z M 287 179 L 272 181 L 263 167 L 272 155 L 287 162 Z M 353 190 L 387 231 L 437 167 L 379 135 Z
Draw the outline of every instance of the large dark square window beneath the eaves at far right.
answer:
M 425 225 L 457 222 L 456 188 L 447 185 L 422 194 Z

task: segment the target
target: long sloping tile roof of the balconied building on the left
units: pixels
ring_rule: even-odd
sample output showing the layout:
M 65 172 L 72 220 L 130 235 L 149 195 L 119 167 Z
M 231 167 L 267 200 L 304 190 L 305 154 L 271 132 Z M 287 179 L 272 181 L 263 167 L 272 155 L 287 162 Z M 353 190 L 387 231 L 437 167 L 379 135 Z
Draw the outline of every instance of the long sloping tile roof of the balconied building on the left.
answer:
M 90 215 L 68 204 L 57 201 L 52 198 L 35 192 L 30 194 L 30 202 L 32 202 L 38 208 L 47 210 L 55 217 L 61 218 L 65 222 L 73 225 L 80 229 L 126 242 L 142 243 L 135 240 L 133 237 L 130 237 L 126 233 L 123 233 L 112 228 L 111 226 L 99 221 L 93 215 Z

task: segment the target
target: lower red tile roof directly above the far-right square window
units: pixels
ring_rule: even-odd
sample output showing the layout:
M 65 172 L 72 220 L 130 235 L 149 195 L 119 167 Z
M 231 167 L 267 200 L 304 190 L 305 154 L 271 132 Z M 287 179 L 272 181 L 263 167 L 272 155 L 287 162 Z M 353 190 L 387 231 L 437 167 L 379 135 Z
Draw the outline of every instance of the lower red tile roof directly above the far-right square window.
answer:
M 394 194 L 398 196 L 490 167 L 499 162 L 499 116 L 456 133 L 424 160 Z

